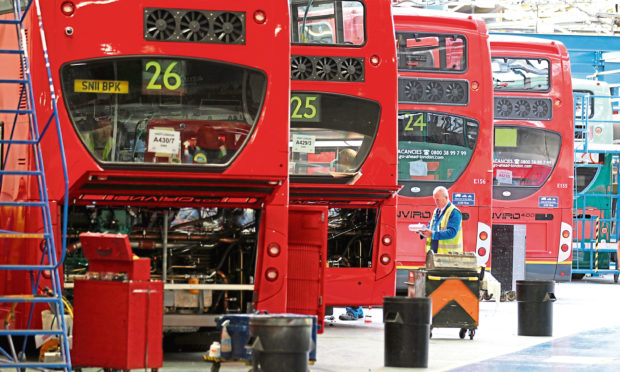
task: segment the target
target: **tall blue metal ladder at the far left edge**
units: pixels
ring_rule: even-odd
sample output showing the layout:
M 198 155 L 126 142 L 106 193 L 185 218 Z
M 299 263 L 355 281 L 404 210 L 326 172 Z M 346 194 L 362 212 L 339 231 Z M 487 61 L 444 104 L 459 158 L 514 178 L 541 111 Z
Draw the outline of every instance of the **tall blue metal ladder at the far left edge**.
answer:
M 54 84 L 52 81 L 52 74 L 50 70 L 49 58 L 47 53 L 47 46 L 45 40 L 45 33 L 43 30 L 43 19 L 41 17 L 41 11 L 39 6 L 39 0 L 13 0 L 13 17 L 10 14 L 4 14 L 0 19 L 0 32 L 9 33 L 12 32 L 12 28 L 15 31 L 15 38 L 17 43 L 17 49 L 0 49 L 0 56 L 3 58 L 13 55 L 18 60 L 20 68 L 20 76 L 0 76 L 0 86 L 4 92 L 7 92 L 10 87 L 14 87 L 14 92 L 17 98 L 17 107 L 0 107 L 0 115 L 3 118 L 11 118 L 4 123 L 2 131 L 0 133 L 0 151 L 2 157 L 0 158 L 0 188 L 3 184 L 10 184 L 11 178 L 15 180 L 15 177 L 19 177 L 19 181 L 29 180 L 33 184 L 36 179 L 36 186 L 38 187 L 38 195 L 27 195 L 17 193 L 12 195 L 14 200 L 0 200 L 0 210 L 7 213 L 12 213 L 16 219 L 23 219 L 18 221 L 14 225 L 9 226 L 7 221 L 0 221 L 0 242 L 4 241 L 9 249 L 20 249 L 20 247 L 27 244 L 33 244 L 38 242 L 41 248 L 42 255 L 40 261 L 33 262 L 32 264 L 15 264 L 8 263 L 6 259 L 0 261 L 0 274 L 4 273 L 4 277 L 10 277 L 7 274 L 11 272 L 22 272 L 23 276 L 18 276 L 22 279 L 22 283 L 15 283 L 16 288 L 18 285 L 23 285 L 24 280 L 30 279 L 30 291 L 28 293 L 0 293 L 0 305 L 3 306 L 7 313 L 2 314 L 0 318 L 0 338 L 6 338 L 8 341 L 8 349 L 0 347 L 0 370 L 4 368 L 11 369 L 25 369 L 34 368 L 37 370 L 47 369 L 59 369 L 64 371 L 71 371 L 71 359 L 69 354 L 69 337 L 67 334 L 67 325 L 65 322 L 65 310 L 64 306 L 70 309 L 70 305 L 62 297 L 62 288 L 60 285 L 60 265 L 64 261 L 66 251 L 66 232 L 67 232 L 67 212 L 68 212 L 68 175 L 66 159 L 64 154 L 64 145 L 62 141 L 62 132 L 60 129 L 60 122 L 58 120 L 58 109 L 56 106 L 56 95 L 54 92 Z M 23 8 L 22 8 L 23 5 Z M 36 17 L 32 14 L 36 9 Z M 26 40 L 26 27 L 24 21 L 29 19 L 32 30 L 36 31 L 38 25 L 39 33 L 41 36 L 42 52 L 45 57 L 45 63 L 47 68 L 47 77 L 49 81 L 49 94 L 51 97 L 52 114 L 47 120 L 45 126 L 39 129 L 37 122 L 36 106 L 35 106 L 35 92 L 33 92 L 33 84 L 30 73 L 30 61 L 28 57 L 28 45 Z M 8 69 L 7 69 L 8 70 Z M 42 92 L 36 92 L 37 96 Z M 47 92 L 45 92 L 47 93 Z M 55 234 L 52 226 L 52 218 L 50 211 L 50 201 L 47 194 L 47 183 L 45 180 L 45 171 L 43 167 L 43 156 L 41 152 L 41 140 L 48 132 L 50 125 L 54 123 L 58 146 L 60 149 L 60 158 L 62 161 L 62 169 L 65 182 L 65 195 L 63 203 L 63 217 L 61 223 L 61 249 L 57 250 L 55 242 Z M 48 135 L 47 137 L 50 137 Z M 24 170 L 27 161 L 22 164 L 17 164 L 10 158 L 11 151 L 19 146 L 28 146 L 29 154 L 33 157 L 30 164 L 34 165 L 34 169 Z M 23 147 L 22 147 L 23 148 Z M 24 182 L 26 183 L 26 182 Z M 20 184 L 18 182 L 17 184 Z M 26 199 L 26 200 L 24 200 Z M 32 200 L 34 199 L 34 200 Z M 60 202 L 60 201 L 59 201 Z M 40 216 L 39 216 L 40 213 Z M 43 232 L 32 232 L 32 226 L 37 221 L 42 221 Z M 7 228 L 3 228 L 3 225 Z M 27 231 L 30 230 L 30 231 Z M 13 244 L 9 244 L 11 242 Z M 15 243 L 18 242 L 19 244 Z M 23 244 L 22 244 L 23 243 Z M 36 243 L 34 243 L 36 244 Z M 60 259 L 57 254 L 60 253 Z M 50 287 L 45 287 L 43 278 L 48 277 L 50 279 Z M 47 279 L 47 278 L 46 278 Z M 11 290 L 11 281 L 7 280 L 5 285 L 9 291 Z M 54 323 L 57 327 L 50 327 L 52 329 L 33 329 L 32 323 L 35 316 L 36 304 L 47 304 L 51 310 Z M 12 320 L 15 319 L 15 310 L 18 306 L 22 306 L 26 309 L 21 316 L 24 316 L 24 320 L 21 323 L 26 324 L 23 329 L 16 329 L 12 326 Z M 39 305 L 40 306 L 40 305 Z M 39 307 L 37 306 L 37 307 Z M 26 317 L 27 316 L 27 320 Z M 14 337 L 23 337 L 23 344 L 21 349 L 16 347 Z M 36 358 L 28 358 L 26 356 L 26 344 L 30 337 L 49 337 L 54 336 L 58 339 L 58 348 L 56 353 L 52 353 L 53 359 L 47 361 L 45 359 L 39 360 Z

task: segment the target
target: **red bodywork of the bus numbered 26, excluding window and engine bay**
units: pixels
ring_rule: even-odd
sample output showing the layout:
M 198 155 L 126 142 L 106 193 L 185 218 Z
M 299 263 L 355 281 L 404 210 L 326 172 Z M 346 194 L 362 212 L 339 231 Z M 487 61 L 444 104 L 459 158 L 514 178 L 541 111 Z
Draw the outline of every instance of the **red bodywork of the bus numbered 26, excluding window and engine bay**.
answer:
M 61 13 L 63 3 L 63 0 L 41 2 L 70 188 L 70 200 L 61 200 L 65 185 L 60 153 L 55 141 L 56 133 L 49 133 L 55 132 L 52 126 L 46 135 L 47 139 L 42 143 L 49 199 L 53 203 L 70 202 L 76 205 L 99 206 L 262 208 L 256 272 L 251 273 L 255 280 L 254 306 L 259 310 L 284 312 L 287 250 L 283 249 L 280 255 L 271 257 L 263 248 L 270 243 L 286 247 L 288 235 L 290 33 L 287 4 L 258 3 L 251 0 L 228 3 L 190 0 L 182 4 L 167 0 L 148 3 L 76 0 L 72 2 L 75 12 L 67 16 Z M 244 12 L 246 39 L 243 43 L 233 45 L 148 41 L 144 38 L 143 30 L 143 12 L 147 7 Z M 257 11 L 265 15 L 264 22 L 255 19 L 254 14 Z M 51 96 L 36 12 L 31 10 L 28 17 L 26 22 L 28 53 L 32 66 L 36 111 L 42 121 L 51 115 Z M 112 24 L 122 27 L 108 27 Z M 6 40 L 13 39 L 13 35 L 0 32 L 2 42 L 0 48 L 15 49 L 15 45 L 6 46 Z M 248 66 L 264 72 L 267 79 L 262 111 L 252 132 L 249 133 L 245 147 L 227 168 L 196 167 L 188 170 L 174 166 L 149 167 L 143 164 L 136 166 L 100 163 L 94 159 L 70 121 L 66 102 L 60 90 L 60 69 L 70 62 L 125 56 L 207 59 Z M 4 54 L 0 58 L 4 58 Z M 18 65 L 15 62 L 2 63 L 2 66 L 3 73 L 7 71 L 4 69 L 5 66 L 11 69 L 7 71 L 10 75 L 8 78 L 16 78 L 19 75 Z M 2 89 L 0 99 L 15 99 L 17 90 L 5 90 L 8 89 L 5 87 Z M 44 124 L 40 123 L 39 128 Z M 17 163 L 14 159 L 18 157 L 20 155 L 15 152 L 9 162 Z M 29 168 L 34 160 L 28 154 L 22 157 L 26 158 L 24 168 Z M 35 195 L 35 187 L 36 185 L 24 182 L 20 184 L 5 181 L 2 184 L 1 195 L 12 200 L 28 200 Z M 1 213 L 4 212 L 0 211 Z M 8 216 L 6 219 L 4 215 L 2 217 L 2 220 L 10 220 L 9 224 L 13 225 L 23 223 L 25 219 L 33 231 L 42 228 L 40 222 L 33 220 L 29 215 Z M 53 218 L 56 226 L 60 213 L 55 213 Z M 0 242 L 3 251 L 13 250 L 12 246 L 13 242 Z M 19 254 L 28 257 L 28 260 L 36 261 L 36 257 L 40 257 L 38 249 L 38 242 L 32 242 L 27 247 L 22 247 Z M 7 254 L 8 256 L 10 255 Z M 10 261 L 17 263 L 19 260 L 10 258 Z M 265 280 L 267 268 L 278 270 L 277 280 Z M 21 274 L 11 273 L 9 276 L 11 277 L 0 281 L 0 286 L 9 288 L 9 291 L 22 285 L 29 289 L 29 281 L 24 281 Z M 38 318 L 38 315 L 35 318 Z

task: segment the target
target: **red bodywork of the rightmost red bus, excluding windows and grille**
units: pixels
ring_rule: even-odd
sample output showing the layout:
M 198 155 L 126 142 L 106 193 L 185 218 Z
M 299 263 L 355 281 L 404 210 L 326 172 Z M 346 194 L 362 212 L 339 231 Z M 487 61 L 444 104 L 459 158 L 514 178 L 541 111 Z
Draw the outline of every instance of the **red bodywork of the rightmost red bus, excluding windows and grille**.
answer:
M 516 200 L 502 200 L 500 193 L 494 192 L 493 225 L 525 226 L 525 279 L 569 281 L 572 262 L 574 108 L 568 51 L 558 41 L 494 35 L 491 37 L 491 54 L 493 57 L 540 58 L 550 62 L 551 86 L 548 92 L 496 91 L 496 97 L 542 97 L 553 102 L 551 120 L 496 119 L 495 125 L 546 129 L 561 135 L 555 168 L 534 193 Z M 540 198 L 544 197 L 557 197 L 557 207 L 541 207 Z M 568 238 L 563 238 L 563 233 L 568 233 Z M 500 237 L 494 236 L 494 241 L 495 238 Z M 566 241 L 568 244 L 563 249 Z

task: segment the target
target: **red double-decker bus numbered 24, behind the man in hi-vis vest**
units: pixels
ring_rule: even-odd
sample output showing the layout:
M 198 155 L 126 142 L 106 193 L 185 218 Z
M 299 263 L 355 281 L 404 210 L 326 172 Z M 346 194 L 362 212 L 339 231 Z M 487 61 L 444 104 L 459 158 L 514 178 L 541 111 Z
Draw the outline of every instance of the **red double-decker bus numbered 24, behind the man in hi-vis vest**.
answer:
M 463 214 L 465 252 L 488 266 L 493 111 L 484 22 L 471 16 L 394 8 L 398 48 L 397 289 L 424 265 L 426 240 L 409 230 L 430 221 L 433 190 L 445 186 Z

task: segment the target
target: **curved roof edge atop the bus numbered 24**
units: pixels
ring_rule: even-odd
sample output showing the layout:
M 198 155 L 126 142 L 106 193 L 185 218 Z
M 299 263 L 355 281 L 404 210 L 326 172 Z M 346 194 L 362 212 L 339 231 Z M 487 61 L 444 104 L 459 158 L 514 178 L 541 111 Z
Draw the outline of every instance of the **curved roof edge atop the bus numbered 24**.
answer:
M 392 7 L 396 28 L 410 25 L 416 31 L 432 27 L 433 31 L 458 31 L 487 33 L 487 27 L 482 19 L 469 14 L 444 12 L 433 9 L 419 9 L 409 7 Z

